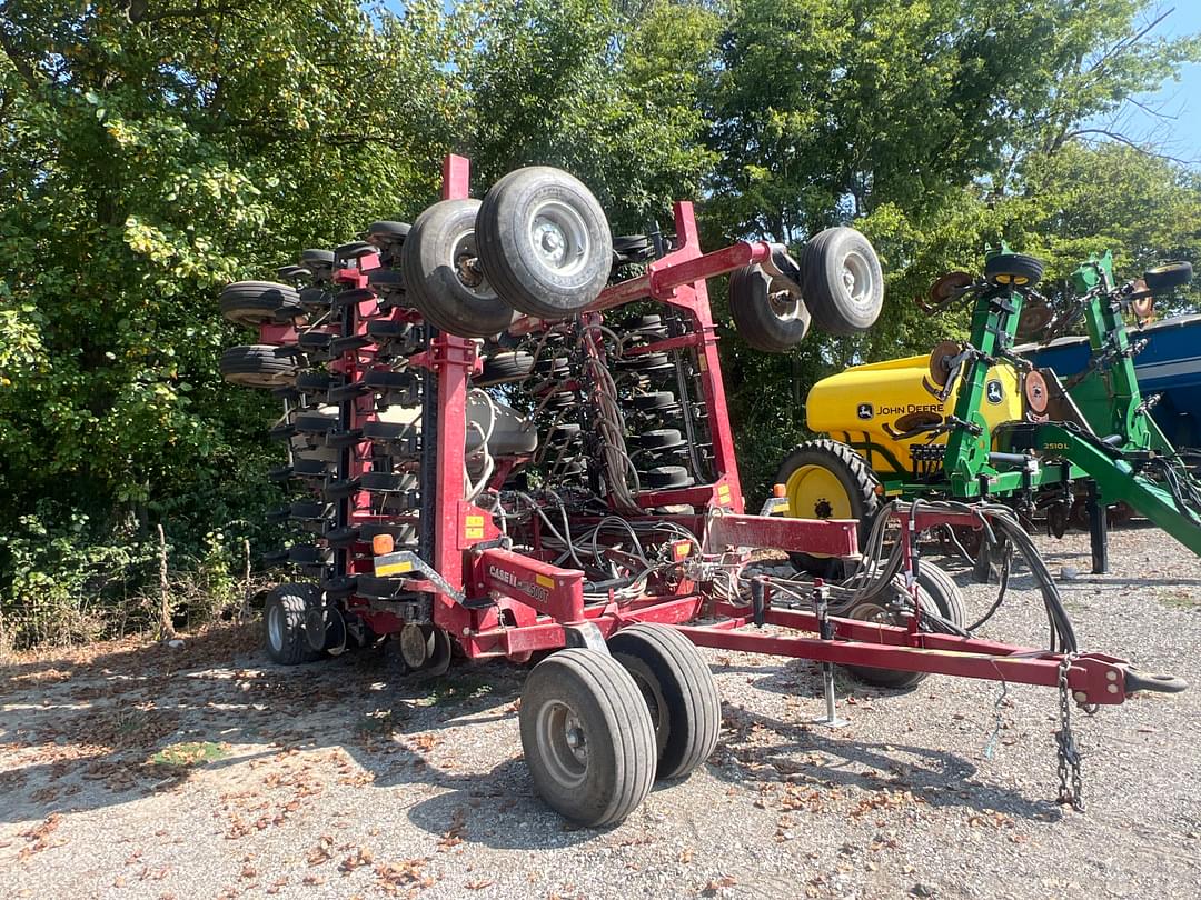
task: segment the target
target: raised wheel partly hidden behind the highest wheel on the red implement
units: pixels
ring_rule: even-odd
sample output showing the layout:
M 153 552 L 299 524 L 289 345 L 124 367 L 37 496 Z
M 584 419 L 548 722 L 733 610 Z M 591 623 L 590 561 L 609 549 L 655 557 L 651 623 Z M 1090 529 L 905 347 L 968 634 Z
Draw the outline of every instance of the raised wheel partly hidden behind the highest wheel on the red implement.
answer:
M 513 308 L 466 260 L 477 257 L 479 200 L 442 200 L 417 217 L 404 247 L 405 293 L 435 326 L 461 337 L 486 337 L 513 322 Z

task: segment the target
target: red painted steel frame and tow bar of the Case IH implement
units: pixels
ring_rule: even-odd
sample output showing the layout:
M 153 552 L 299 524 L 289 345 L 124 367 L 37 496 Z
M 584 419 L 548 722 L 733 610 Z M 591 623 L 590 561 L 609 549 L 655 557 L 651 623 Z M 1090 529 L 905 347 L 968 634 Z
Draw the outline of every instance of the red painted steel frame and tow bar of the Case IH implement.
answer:
M 462 157 L 447 157 L 443 166 L 444 199 L 468 197 L 468 166 Z M 766 262 L 771 248 L 761 241 L 742 241 L 703 253 L 691 203 L 676 204 L 675 224 L 677 248 L 674 252 L 652 262 L 644 275 L 608 288 L 585 311 L 600 313 L 635 300 L 653 299 L 683 310 L 692 318 L 691 334 L 644 344 L 631 353 L 695 348 L 717 480 L 711 485 L 645 492 L 639 497 L 639 505 L 644 508 L 692 504 L 706 509 L 707 515 L 647 515 L 645 518 L 676 518 L 692 527 L 694 533 L 707 529 L 709 542 L 717 547 L 854 554 L 858 551 L 854 522 L 743 515 L 734 437 L 705 280 Z M 365 258 L 357 270 L 336 272 L 336 280 L 351 287 L 364 287 L 366 270 L 377 264 L 375 257 Z M 358 322 L 372 314 L 366 306 L 358 310 Z M 518 323 L 514 330 L 538 326 L 536 320 L 525 320 Z M 282 334 L 268 334 L 269 330 L 264 328 L 264 340 L 283 337 Z M 355 354 L 354 359 L 343 364 L 342 371 L 348 378 L 358 377 L 370 364 L 369 353 Z M 703 586 L 688 580 L 634 601 L 617 602 L 610 596 L 609 602 L 585 605 L 582 572 L 502 548 L 491 514 L 464 499 L 468 379 L 479 366 L 476 343 L 440 334 L 429 342 L 423 354 L 410 360 L 410 365 L 425 367 L 436 378 L 438 390 L 437 496 L 432 509 L 428 506 L 424 512 L 436 516 L 434 556 L 428 562 L 453 589 L 482 602 L 465 605 L 428 580 L 414 578 L 407 587 L 432 595 L 434 623 L 454 636 L 468 658 L 520 660 L 533 650 L 567 646 L 569 632 L 581 625 L 594 626 L 600 635 L 608 636 L 632 623 L 655 622 L 677 628 L 693 643 L 703 647 L 1046 686 L 1058 684 L 1060 655 L 993 641 L 921 632 L 915 617 L 910 617 L 913 622 L 908 626 L 831 618 L 833 638 L 820 640 L 815 636 L 819 623 L 813 613 L 773 608 L 770 590 L 765 598 L 763 623 L 814 636 L 779 634 L 775 629 L 751 630 L 747 628 L 753 624 L 749 606 L 715 598 Z M 355 406 L 358 420 L 370 418 L 372 413 L 368 407 L 370 400 L 363 408 Z M 368 452 L 368 446 L 363 445 L 355 454 L 360 466 Z M 423 503 L 429 504 L 429 498 L 423 498 Z M 916 516 L 919 529 L 939 523 L 976 524 L 976 521 L 954 512 L 922 511 Z M 902 529 L 902 534 L 907 540 L 908 533 Z M 683 541 L 676 550 L 681 559 L 692 552 L 692 547 Z M 364 564 L 370 565 L 370 560 L 360 563 Z M 377 632 L 395 631 L 402 625 L 392 613 L 370 608 L 366 601 L 352 599 L 349 606 Z M 688 624 L 700 616 L 716 617 L 719 622 Z M 1071 660 L 1068 684 L 1078 702 L 1121 703 L 1125 698 L 1124 667 L 1125 664 L 1113 656 L 1082 654 Z

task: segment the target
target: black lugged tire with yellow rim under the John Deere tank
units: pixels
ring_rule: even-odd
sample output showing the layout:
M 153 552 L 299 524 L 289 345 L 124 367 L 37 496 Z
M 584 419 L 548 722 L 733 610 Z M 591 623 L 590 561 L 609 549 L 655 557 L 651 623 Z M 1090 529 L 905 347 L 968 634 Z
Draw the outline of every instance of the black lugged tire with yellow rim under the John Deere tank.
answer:
M 784 485 L 788 515 L 793 518 L 854 518 L 860 544 L 872 530 L 880 508 L 879 479 L 852 448 L 829 438 L 797 444 L 776 473 Z M 793 564 L 819 577 L 841 578 L 832 557 L 790 553 Z

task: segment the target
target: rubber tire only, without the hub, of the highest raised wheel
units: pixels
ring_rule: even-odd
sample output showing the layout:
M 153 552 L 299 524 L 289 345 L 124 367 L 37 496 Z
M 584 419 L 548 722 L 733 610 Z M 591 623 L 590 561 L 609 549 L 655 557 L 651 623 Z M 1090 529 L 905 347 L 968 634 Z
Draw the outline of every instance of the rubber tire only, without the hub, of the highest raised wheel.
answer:
M 554 200 L 579 216 L 587 256 L 578 271 L 560 275 L 539 262 L 528 235 L 537 206 Z M 599 296 L 613 266 L 613 235 L 604 210 L 579 179 L 549 166 L 510 172 L 484 196 L 476 220 L 479 258 L 497 293 L 527 316 L 562 319 Z

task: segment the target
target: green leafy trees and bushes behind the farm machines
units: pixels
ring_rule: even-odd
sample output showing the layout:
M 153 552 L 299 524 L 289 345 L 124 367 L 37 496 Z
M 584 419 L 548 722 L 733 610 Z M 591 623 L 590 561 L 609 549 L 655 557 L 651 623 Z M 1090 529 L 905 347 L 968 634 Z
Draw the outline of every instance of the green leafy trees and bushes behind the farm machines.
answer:
M 277 538 L 279 449 L 273 400 L 219 377 L 221 349 L 253 338 L 216 293 L 411 220 L 448 151 L 472 157 L 477 193 L 567 168 L 622 232 L 686 197 L 711 246 L 868 234 L 889 296 L 870 335 L 755 354 L 712 292 L 748 486 L 803 433 L 813 380 L 962 335 L 909 300 L 978 268 L 985 241 L 1046 256 L 1052 278 L 1104 247 L 1130 275 L 1196 259 L 1195 173 L 1083 143 L 1197 58 L 1195 38 L 1141 34 L 1152 6 L 0 0 L 7 640 L 127 623 L 125 598 L 156 589 L 159 523 L 185 613 L 235 595 L 243 541 Z

